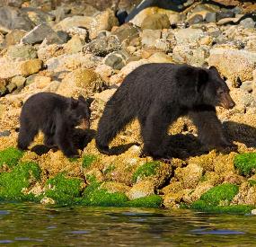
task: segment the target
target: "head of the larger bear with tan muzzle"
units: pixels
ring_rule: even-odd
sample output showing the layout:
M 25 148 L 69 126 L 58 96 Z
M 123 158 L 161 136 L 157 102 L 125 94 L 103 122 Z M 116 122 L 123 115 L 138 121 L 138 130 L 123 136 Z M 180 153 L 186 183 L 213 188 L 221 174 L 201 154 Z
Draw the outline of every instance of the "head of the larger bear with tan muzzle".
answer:
M 196 91 L 200 95 L 200 103 L 232 109 L 235 106 L 229 94 L 225 80 L 221 78 L 215 66 L 198 71 Z

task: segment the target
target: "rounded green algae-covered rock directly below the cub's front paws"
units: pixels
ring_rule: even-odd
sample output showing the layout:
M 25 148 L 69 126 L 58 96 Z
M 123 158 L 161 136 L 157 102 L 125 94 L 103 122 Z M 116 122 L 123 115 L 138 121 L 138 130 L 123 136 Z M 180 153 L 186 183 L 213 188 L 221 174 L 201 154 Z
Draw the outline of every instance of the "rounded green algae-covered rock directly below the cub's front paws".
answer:
M 45 196 L 52 198 L 57 204 L 74 204 L 75 198 L 81 197 L 83 181 L 78 178 L 66 178 L 63 173 L 46 182 L 48 190 Z

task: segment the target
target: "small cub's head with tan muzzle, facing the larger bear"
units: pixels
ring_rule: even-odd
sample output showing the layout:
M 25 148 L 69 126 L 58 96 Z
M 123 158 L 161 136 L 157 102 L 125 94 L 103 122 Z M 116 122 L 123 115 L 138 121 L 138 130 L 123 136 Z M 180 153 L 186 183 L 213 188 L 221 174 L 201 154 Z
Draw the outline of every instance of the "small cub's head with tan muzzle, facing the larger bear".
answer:
M 82 95 L 78 97 L 78 100 L 70 98 L 68 107 L 68 119 L 73 127 L 90 128 L 90 101 L 86 101 Z

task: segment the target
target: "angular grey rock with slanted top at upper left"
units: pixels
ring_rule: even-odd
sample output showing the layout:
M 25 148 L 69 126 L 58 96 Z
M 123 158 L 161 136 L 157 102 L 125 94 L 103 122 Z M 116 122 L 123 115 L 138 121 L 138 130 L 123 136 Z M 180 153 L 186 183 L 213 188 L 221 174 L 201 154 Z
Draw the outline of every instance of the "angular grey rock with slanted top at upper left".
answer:
M 24 44 L 36 44 L 41 43 L 48 36 L 55 35 L 55 31 L 49 27 L 48 24 L 42 23 L 36 26 L 33 30 L 27 33 L 22 38 L 22 43 Z

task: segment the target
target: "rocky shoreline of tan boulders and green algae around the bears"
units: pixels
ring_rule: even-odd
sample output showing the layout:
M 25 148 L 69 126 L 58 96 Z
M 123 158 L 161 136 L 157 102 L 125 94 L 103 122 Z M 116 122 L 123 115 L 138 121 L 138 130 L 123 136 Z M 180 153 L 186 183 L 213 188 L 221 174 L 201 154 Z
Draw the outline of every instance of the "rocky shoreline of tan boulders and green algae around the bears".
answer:
M 146 1 L 136 12 L 139 1 L 128 2 L 120 1 L 118 14 L 83 1 L 0 4 L 0 199 L 253 212 L 256 4 L 181 1 L 175 10 Z M 125 11 L 129 22 L 120 25 Z M 218 68 L 236 102 L 233 110 L 217 109 L 218 117 L 238 153 L 206 152 L 188 118 L 170 128 L 171 165 L 139 158 L 137 121 L 112 142 L 118 155 L 98 152 L 93 130 L 106 101 L 137 66 L 162 62 Z M 39 92 L 93 98 L 81 158 L 45 150 L 41 135 L 31 151 L 15 148 L 22 104 Z

